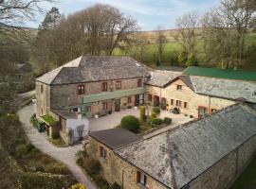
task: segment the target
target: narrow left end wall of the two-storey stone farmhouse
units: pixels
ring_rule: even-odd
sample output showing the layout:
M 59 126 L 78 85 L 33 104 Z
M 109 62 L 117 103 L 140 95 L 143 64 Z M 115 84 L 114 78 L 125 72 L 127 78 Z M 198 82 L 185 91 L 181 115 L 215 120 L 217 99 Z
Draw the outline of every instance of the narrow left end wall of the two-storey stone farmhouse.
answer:
M 50 110 L 50 86 L 45 83 L 36 81 L 36 116 L 37 118 L 45 115 Z M 43 87 L 43 93 L 41 93 L 41 86 Z

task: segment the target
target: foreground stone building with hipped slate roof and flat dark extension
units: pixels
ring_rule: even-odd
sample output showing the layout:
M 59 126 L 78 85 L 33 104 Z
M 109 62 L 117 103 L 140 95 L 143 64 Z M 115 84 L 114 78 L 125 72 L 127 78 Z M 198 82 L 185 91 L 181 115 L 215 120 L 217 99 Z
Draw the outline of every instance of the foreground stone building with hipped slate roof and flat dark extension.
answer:
M 123 189 L 226 189 L 255 156 L 256 111 L 236 104 L 143 139 L 91 132 L 86 151 Z

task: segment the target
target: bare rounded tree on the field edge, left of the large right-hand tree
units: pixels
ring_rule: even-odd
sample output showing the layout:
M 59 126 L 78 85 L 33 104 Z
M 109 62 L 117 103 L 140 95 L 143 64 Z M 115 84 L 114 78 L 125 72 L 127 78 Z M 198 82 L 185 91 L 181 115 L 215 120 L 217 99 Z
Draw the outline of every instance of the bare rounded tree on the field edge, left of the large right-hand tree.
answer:
M 187 54 L 194 54 L 196 43 L 195 30 L 199 26 L 199 17 L 196 12 L 189 12 L 176 19 L 177 31 L 174 39 L 183 47 Z

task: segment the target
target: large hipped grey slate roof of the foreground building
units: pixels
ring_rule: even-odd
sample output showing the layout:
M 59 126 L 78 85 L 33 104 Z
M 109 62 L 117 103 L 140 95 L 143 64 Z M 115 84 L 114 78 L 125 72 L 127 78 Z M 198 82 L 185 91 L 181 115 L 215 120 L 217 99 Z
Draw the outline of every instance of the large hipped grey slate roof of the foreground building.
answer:
M 181 188 L 255 134 L 256 112 L 234 105 L 115 152 L 167 187 Z

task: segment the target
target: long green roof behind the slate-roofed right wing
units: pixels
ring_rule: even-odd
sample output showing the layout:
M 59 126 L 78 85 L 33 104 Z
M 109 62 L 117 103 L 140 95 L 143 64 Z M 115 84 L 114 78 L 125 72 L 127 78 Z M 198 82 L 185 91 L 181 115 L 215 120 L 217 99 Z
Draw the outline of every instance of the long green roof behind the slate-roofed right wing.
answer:
M 190 66 L 184 70 L 183 74 L 190 76 L 201 77 L 218 77 L 229 78 L 238 80 L 253 80 L 256 81 L 256 72 L 249 72 L 244 70 L 231 70 L 231 69 L 217 69 L 217 68 L 204 68 Z

